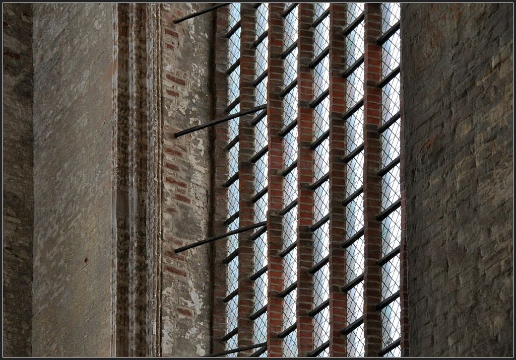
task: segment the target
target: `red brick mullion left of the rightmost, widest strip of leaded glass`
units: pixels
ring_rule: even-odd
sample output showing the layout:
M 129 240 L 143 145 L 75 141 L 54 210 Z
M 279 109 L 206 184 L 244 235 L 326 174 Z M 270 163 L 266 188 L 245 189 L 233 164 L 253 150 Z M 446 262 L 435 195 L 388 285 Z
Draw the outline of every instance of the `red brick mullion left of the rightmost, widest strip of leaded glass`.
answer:
M 378 356 L 381 350 L 381 317 L 375 305 L 381 301 L 381 144 L 378 126 L 381 118 L 381 93 L 377 84 L 381 77 L 380 4 L 365 5 L 364 53 L 364 336 L 365 356 Z

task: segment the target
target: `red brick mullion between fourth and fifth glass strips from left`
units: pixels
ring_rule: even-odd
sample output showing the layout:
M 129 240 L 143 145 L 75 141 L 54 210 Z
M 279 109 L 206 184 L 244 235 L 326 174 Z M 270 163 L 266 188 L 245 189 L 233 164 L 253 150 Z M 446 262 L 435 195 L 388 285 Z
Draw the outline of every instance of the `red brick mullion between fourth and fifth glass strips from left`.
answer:
M 330 287 L 330 356 L 346 356 L 346 216 L 342 201 L 346 198 L 346 80 L 341 76 L 346 66 L 346 42 L 342 35 L 346 27 L 346 5 L 330 5 L 330 223 L 329 223 L 329 287 Z

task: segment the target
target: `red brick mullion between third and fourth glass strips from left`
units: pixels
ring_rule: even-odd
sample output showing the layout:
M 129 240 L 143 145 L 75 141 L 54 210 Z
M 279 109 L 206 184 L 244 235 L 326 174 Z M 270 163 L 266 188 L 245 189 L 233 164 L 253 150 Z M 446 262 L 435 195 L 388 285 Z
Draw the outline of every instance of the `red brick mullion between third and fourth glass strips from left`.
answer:
M 314 138 L 313 75 L 309 67 L 313 59 L 314 9 L 311 3 L 299 4 L 298 22 L 298 206 L 297 206 L 297 343 L 298 356 L 307 356 L 313 350 L 313 320 L 308 315 L 313 305 L 313 224 Z

